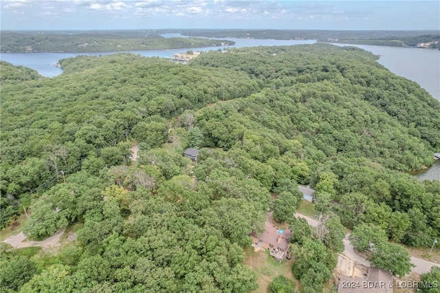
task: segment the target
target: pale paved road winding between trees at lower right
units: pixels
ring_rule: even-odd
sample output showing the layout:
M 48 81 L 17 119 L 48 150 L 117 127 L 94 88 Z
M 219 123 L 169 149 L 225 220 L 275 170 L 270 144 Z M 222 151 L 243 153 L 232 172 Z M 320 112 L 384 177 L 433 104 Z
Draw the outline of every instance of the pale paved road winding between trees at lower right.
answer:
M 307 217 L 305 215 L 301 215 L 296 213 L 295 217 L 302 217 L 307 220 L 307 223 L 309 223 L 310 226 L 318 226 L 320 222 L 316 219 L 312 219 L 311 217 Z M 351 245 L 349 241 L 349 233 L 345 235 L 344 239 L 342 239 L 342 242 L 344 242 L 344 252 L 343 254 L 352 259 L 353 261 L 360 263 L 362 265 L 370 266 L 369 261 L 361 257 L 359 254 L 357 254 Z M 424 274 L 426 272 L 429 272 L 429 270 L 433 266 L 440 267 L 439 263 L 433 263 L 432 261 L 426 261 L 424 259 L 418 259 L 417 257 L 411 257 L 411 262 L 415 264 L 415 268 L 412 268 L 412 272 L 417 272 L 417 274 Z

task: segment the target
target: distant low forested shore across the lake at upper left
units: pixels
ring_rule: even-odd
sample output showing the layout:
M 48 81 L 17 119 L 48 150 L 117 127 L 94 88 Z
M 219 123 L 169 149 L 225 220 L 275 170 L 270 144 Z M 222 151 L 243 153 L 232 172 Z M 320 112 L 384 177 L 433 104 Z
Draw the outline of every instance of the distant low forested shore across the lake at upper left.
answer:
M 164 38 L 159 34 L 120 32 L 2 32 L 0 52 L 115 52 L 234 45 L 234 41 L 201 38 Z

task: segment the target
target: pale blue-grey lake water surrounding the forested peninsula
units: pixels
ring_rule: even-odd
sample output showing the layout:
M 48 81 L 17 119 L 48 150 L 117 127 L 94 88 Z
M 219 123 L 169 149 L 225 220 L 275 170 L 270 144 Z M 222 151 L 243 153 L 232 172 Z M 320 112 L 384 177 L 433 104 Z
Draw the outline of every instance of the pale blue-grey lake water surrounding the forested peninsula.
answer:
M 181 36 L 179 34 L 166 34 L 166 37 Z M 316 43 L 314 40 L 261 40 L 261 39 L 234 39 L 233 47 L 256 47 L 259 45 L 298 45 Z M 342 45 L 342 44 L 336 44 Z M 440 100 L 440 50 L 428 50 L 418 48 L 403 47 L 385 47 L 374 45 L 355 45 L 366 51 L 379 55 L 377 61 L 384 65 L 394 74 L 403 76 L 409 80 L 418 83 L 423 89 L 426 89 L 431 96 Z M 209 51 L 223 49 L 223 47 L 201 47 L 173 50 L 148 50 L 148 51 L 130 51 L 133 54 L 140 54 L 146 57 L 157 56 L 160 58 L 171 58 L 176 53 L 186 50 Z M 60 59 L 74 57 L 77 55 L 109 55 L 117 52 L 97 52 L 97 53 L 3 53 L 0 54 L 0 60 L 7 61 L 14 65 L 23 65 L 35 69 L 39 74 L 48 77 L 54 77 L 63 72 L 61 68 L 55 67 L 54 63 Z M 436 150 L 440 151 L 440 150 Z M 440 181 L 440 162 L 436 161 L 427 171 L 421 171 L 415 174 L 420 180 L 439 180 Z

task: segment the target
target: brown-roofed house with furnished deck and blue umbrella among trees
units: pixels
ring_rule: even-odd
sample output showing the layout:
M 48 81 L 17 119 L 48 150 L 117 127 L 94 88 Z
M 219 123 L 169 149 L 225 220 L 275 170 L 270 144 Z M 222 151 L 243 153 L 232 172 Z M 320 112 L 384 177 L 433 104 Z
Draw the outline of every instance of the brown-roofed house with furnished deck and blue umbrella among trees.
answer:
M 265 222 L 265 232 L 256 235 L 255 232 L 250 234 L 252 246 L 256 249 L 267 249 L 270 255 L 277 261 L 283 261 L 289 257 L 289 237 L 293 234 L 289 229 L 279 229 L 270 223 L 269 219 L 272 213 L 268 213 Z

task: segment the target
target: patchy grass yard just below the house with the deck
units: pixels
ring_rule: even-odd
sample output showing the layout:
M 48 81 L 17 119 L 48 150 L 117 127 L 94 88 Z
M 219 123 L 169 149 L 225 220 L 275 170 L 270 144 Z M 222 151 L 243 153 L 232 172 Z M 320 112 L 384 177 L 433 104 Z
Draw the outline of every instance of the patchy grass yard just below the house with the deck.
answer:
M 253 292 L 267 292 L 267 286 L 274 277 L 280 274 L 293 279 L 298 284 L 298 281 L 292 275 L 292 261 L 285 259 L 282 263 L 279 263 L 269 255 L 268 251 L 255 252 L 253 247 L 245 248 L 245 264 L 249 265 L 258 275 L 256 283 L 259 284 L 259 288 Z M 298 285 L 296 287 L 298 288 Z

